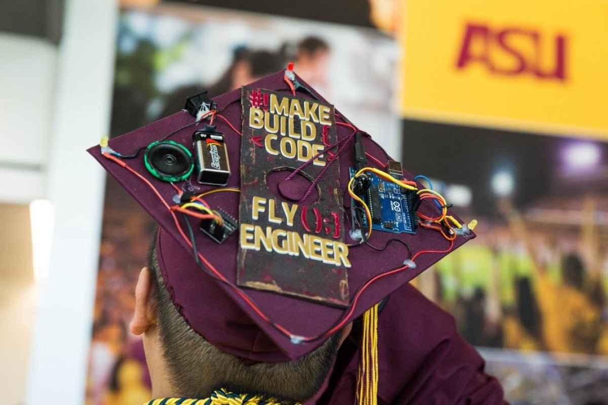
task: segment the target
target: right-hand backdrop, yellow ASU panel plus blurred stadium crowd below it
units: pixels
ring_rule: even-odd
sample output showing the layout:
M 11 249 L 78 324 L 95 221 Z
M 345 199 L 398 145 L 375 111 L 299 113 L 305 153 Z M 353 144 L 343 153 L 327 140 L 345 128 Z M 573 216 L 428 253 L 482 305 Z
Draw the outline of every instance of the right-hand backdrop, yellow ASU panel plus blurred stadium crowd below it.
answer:
M 479 220 L 418 287 L 512 403 L 606 403 L 608 4 L 402 4 L 404 165 Z

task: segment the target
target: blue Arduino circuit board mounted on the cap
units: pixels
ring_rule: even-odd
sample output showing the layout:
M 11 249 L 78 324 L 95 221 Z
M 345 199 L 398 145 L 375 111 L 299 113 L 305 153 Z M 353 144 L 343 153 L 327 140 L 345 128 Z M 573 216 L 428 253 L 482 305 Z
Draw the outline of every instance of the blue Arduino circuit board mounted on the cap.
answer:
M 350 168 L 351 177 L 354 173 L 354 168 Z M 373 173 L 368 175 L 371 184 L 363 200 L 370 209 L 371 228 L 392 233 L 416 233 L 418 227 L 416 210 L 420 203 L 416 192 L 402 189 Z M 362 216 L 362 222 L 362 225 L 368 226 L 367 217 Z

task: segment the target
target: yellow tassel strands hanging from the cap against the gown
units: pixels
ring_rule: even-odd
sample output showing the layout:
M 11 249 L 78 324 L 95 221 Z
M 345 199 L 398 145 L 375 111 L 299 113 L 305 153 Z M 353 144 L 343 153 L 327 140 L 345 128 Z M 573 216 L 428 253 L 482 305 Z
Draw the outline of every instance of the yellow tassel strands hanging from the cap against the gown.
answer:
M 378 404 L 378 307 L 374 305 L 363 314 L 361 362 L 357 381 L 357 403 Z

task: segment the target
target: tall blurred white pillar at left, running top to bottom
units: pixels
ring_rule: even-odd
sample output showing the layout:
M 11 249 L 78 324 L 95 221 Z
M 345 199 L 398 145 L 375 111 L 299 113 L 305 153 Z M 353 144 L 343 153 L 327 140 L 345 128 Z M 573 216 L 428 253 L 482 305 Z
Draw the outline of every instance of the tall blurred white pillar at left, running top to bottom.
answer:
M 46 171 L 55 229 L 26 404 L 84 402 L 104 185 L 85 149 L 108 133 L 117 14 L 116 1 L 66 1 Z

